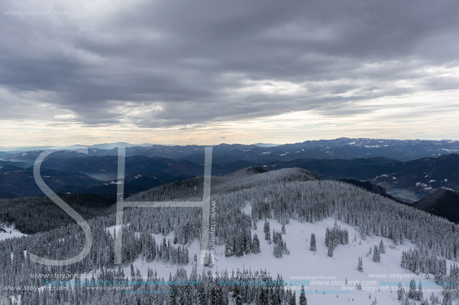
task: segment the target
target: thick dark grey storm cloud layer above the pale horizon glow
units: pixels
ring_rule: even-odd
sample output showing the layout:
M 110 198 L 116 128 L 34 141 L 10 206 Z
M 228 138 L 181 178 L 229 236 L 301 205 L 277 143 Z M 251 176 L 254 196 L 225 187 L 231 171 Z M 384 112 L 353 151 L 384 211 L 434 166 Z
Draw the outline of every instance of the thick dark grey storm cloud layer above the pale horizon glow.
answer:
M 50 120 L 68 111 L 88 125 L 139 127 L 310 109 L 352 115 L 376 109 L 355 104 L 361 100 L 458 85 L 457 75 L 423 70 L 457 67 L 457 1 L 179 0 L 62 9 L 69 15 L 0 18 L 0 119 L 33 116 L 39 103 L 54 107 Z

